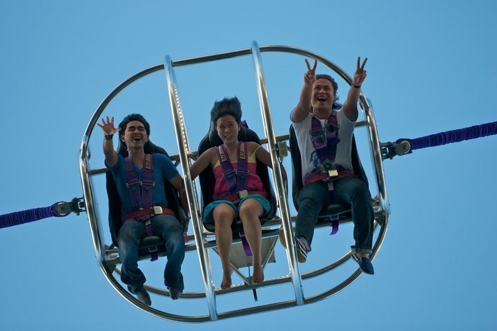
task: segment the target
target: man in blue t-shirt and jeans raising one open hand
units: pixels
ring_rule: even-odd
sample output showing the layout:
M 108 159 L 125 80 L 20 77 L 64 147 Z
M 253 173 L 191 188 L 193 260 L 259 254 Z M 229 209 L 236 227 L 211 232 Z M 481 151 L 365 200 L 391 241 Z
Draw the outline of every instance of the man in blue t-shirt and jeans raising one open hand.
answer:
M 181 265 L 184 260 L 184 236 L 182 225 L 168 209 L 164 181 L 168 180 L 179 191 L 186 207 L 184 182 L 176 167 L 166 155 L 146 154 L 144 145 L 150 135 L 150 125 L 142 115 L 131 114 L 117 128 L 114 117 L 102 119 L 97 124 L 104 131 L 104 155 L 106 166 L 115 178 L 117 193 L 122 205 L 117 241 L 121 259 L 121 281 L 139 301 L 151 305 L 150 295 L 144 289 L 146 278 L 138 268 L 138 245 L 150 234 L 161 236 L 167 249 L 168 261 L 164 269 L 164 284 L 170 296 L 176 300 L 184 290 Z M 128 149 L 128 158 L 119 155 L 113 144 L 114 133 Z

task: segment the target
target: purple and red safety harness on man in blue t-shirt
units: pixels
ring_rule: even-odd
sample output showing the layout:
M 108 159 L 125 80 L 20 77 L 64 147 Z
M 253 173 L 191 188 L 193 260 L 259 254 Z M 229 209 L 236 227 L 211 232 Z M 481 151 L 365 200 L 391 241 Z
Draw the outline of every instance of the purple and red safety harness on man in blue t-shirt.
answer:
M 175 216 L 174 212 L 168 208 L 154 206 L 152 202 L 152 193 L 155 182 L 153 181 L 153 158 L 152 155 L 146 154 L 144 156 L 143 176 L 139 180 L 137 172 L 135 171 L 135 164 L 130 158 L 124 159 L 126 167 L 126 187 L 128 187 L 131 198 L 130 213 L 121 217 L 121 221 L 134 218 L 139 222 L 145 223 L 147 236 L 153 236 L 152 223 L 150 218 L 156 215 L 168 214 Z M 149 247 L 150 261 L 155 261 L 158 258 L 157 246 Z

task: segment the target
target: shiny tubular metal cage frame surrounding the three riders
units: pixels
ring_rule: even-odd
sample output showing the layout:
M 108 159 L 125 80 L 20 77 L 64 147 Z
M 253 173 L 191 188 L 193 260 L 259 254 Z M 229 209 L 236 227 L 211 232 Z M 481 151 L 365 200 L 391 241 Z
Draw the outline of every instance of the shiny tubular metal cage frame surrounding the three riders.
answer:
M 126 86 L 132 84 L 138 79 L 145 77 L 151 73 L 155 73 L 159 70 L 164 70 L 166 74 L 166 81 L 168 86 L 168 96 L 170 100 L 170 109 L 173 115 L 173 123 L 175 127 L 175 135 L 177 138 L 177 145 L 179 152 L 177 155 L 171 154 L 171 158 L 176 160 L 182 166 L 182 171 L 184 173 L 184 183 L 186 187 L 186 194 L 188 198 L 188 207 L 190 210 L 199 210 L 199 203 L 197 201 L 197 187 L 195 186 L 195 182 L 191 180 L 189 167 L 191 165 L 191 158 L 195 156 L 195 151 L 191 151 L 188 145 L 188 135 L 186 134 L 186 126 L 183 120 L 182 106 L 179 100 L 179 93 L 177 88 L 177 82 L 175 77 L 175 67 L 179 66 L 187 66 L 191 64 L 200 64 L 204 62 L 218 61 L 222 59 L 229 59 L 232 57 L 241 57 L 245 55 L 251 55 L 253 58 L 253 64 L 255 66 L 255 78 L 257 84 L 257 92 L 260 101 L 260 111 L 262 115 L 262 122 L 264 125 L 264 133 L 266 138 L 262 139 L 263 143 L 267 143 L 269 147 L 269 153 L 271 154 L 271 160 L 273 162 L 273 182 L 275 184 L 275 196 L 279 205 L 279 214 L 280 217 L 277 217 L 274 221 L 269 223 L 269 227 L 271 224 L 273 225 L 273 231 L 266 231 L 264 236 L 278 236 L 282 233 L 284 236 L 286 243 L 289 243 L 289 247 L 295 247 L 295 238 L 293 237 L 292 231 L 292 222 L 295 219 L 290 215 L 289 211 L 289 202 L 286 196 L 286 192 L 284 190 L 284 182 L 282 179 L 282 170 L 280 168 L 280 162 L 278 162 L 278 158 L 280 157 L 279 149 L 280 143 L 284 140 L 288 140 L 289 135 L 275 135 L 273 130 L 273 119 L 271 117 L 271 109 L 269 104 L 269 97 L 266 91 L 266 85 L 264 82 L 264 73 L 262 70 L 262 59 L 261 53 L 265 52 L 273 52 L 273 53 L 293 53 L 296 55 L 302 55 L 304 57 L 312 57 L 317 59 L 322 64 L 331 68 L 331 70 L 338 73 L 342 79 L 344 79 L 348 84 L 351 84 L 352 79 L 344 72 L 341 68 L 333 64 L 333 62 L 328 59 L 312 53 L 308 50 L 302 50 L 300 48 L 293 48 L 289 46 L 261 46 L 257 45 L 256 41 L 253 41 L 250 48 L 245 48 L 242 50 L 233 50 L 225 53 L 217 53 L 213 55 L 205 55 L 200 57 L 191 57 L 188 59 L 180 59 L 176 61 L 172 61 L 169 56 L 166 56 L 164 59 L 164 64 L 158 64 L 157 66 L 152 66 L 141 72 L 129 77 L 124 82 L 119 84 L 112 92 L 110 92 L 104 101 L 99 104 L 97 110 L 92 115 L 90 122 L 88 122 L 88 126 L 86 127 L 86 131 L 83 136 L 83 140 L 81 142 L 81 149 L 79 150 L 79 171 L 81 176 L 81 185 L 83 187 L 84 193 L 84 203 L 86 206 L 86 212 L 88 214 L 88 222 L 90 224 L 90 231 L 92 234 L 93 247 L 95 249 L 95 256 L 97 258 L 97 262 L 99 263 L 99 267 L 101 272 L 103 272 L 104 276 L 107 278 L 110 285 L 112 285 L 121 296 L 124 297 L 127 301 L 132 303 L 155 316 L 161 317 L 163 319 L 169 319 L 173 321 L 182 321 L 182 322 L 204 322 L 204 321 L 217 321 L 219 319 L 226 319 L 234 316 L 242 316 L 245 314 L 253 314 L 257 312 L 266 312 L 271 310 L 279 310 L 282 308 L 290 308 L 297 305 L 304 305 L 308 303 L 315 303 L 317 301 L 323 300 L 336 294 L 343 290 L 345 287 L 350 285 L 355 279 L 362 274 L 360 269 L 357 269 L 353 274 L 351 274 L 348 278 L 346 278 L 342 283 L 332 287 L 331 289 L 315 294 L 312 296 L 304 296 L 302 280 L 306 278 L 312 278 L 314 276 L 319 276 L 320 274 L 324 274 L 325 272 L 329 272 L 331 269 L 338 267 L 345 261 L 349 261 L 351 252 L 349 251 L 347 254 L 344 254 L 337 261 L 329 263 L 320 269 L 316 269 L 312 272 L 306 272 L 304 274 L 300 273 L 300 269 L 298 266 L 298 259 L 295 253 L 295 249 L 286 249 L 286 258 L 289 265 L 289 274 L 286 276 L 273 278 L 265 280 L 261 284 L 253 285 L 249 283 L 245 283 L 244 285 L 237 285 L 236 287 L 232 287 L 229 290 L 220 290 L 216 289 L 213 285 L 212 272 L 211 272 L 211 262 L 208 254 L 208 248 L 214 247 L 215 242 L 213 240 L 208 240 L 209 233 L 204 230 L 202 226 L 201 220 L 199 220 L 199 216 L 197 213 L 192 214 L 192 223 L 193 223 L 193 236 L 190 236 L 191 239 L 194 239 L 194 243 L 189 243 L 186 245 L 186 251 L 197 252 L 199 258 L 199 268 L 202 274 L 202 281 L 204 283 L 204 292 L 185 292 L 182 299 L 188 298 L 199 298 L 205 297 L 206 303 L 208 306 L 208 315 L 203 316 L 184 316 L 171 314 L 162 310 L 157 310 L 153 307 L 148 307 L 142 303 L 140 303 L 135 296 L 130 294 L 128 291 L 121 286 L 119 281 L 115 278 L 115 271 L 119 272 L 119 268 L 116 267 L 119 264 L 117 259 L 116 250 L 108 247 L 104 243 L 103 231 L 104 227 L 101 225 L 101 220 L 99 218 L 99 214 L 95 210 L 97 206 L 97 198 L 93 191 L 93 183 L 92 176 L 99 175 L 105 172 L 105 168 L 99 167 L 96 169 L 91 169 L 90 167 L 90 158 L 91 153 L 88 148 L 88 142 L 90 141 L 90 137 L 92 135 L 92 131 L 97 124 L 97 121 L 101 117 L 101 113 L 103 113 L 106 106 L 110 103 L 113 98 L 119 94 Z M 366 120 L 362 122 L 358 122 L 356 126 L 367 126 L 367 133 L 369 138 L 369 146 L 371 147 L 371 157 L 373 161 L 373 171 L 376 176 L 376 185 L 378 188 L 378 196 L 373 199 L 373 208 L 375 210 L 375 231 L 380 228 L 378 232 L 378 236 L 376 238 L 375 243 L 373 244 L 373 253 L 371 254 L 371 259 L 375 258 L 376 254 L 380 250 L 384 236 L 387 232 L 387 227 L 389 224 L 389 215 L 390 215 L 390 205 L 387 194 L 387 188 L 384 178 L 384 170 L 382 164 L 382 149 L 380 145 L 380 140 L 378 138 L 378 131 L 376 128 L 376 121 L 373 115 L 373 108 L 371 106 L 371 101 L 368 100 L 363 94 L 360 95 L 359 100 L 360 107 L 366 114 Z M 266 225 L 265 225 L 266 226 Z M 274 228 L 277 226 L 277 228 Z M 236 240 L 234 240 L 235 243 Z M 293 287 L 293 292 L 295 295 L 295 299 L 289 301 L 282 301 L 278 303 L 270 303 L 265 305 L 257 305 L 253 307 L 243 308 L 240 310 L 230 310 L 226 312 L 218 312 L 216 305 L 216 296 L 231 292 L 237 292 L 240 290 L 253 290 L 257 287 L 264 287 L 270 285 L 278 285 L 282 283 L 291 283 Z M 168 295 L 167 290 L 161 290 L 155 287 L 146 287 L 148 290 L 154 292 L 155 294 Z

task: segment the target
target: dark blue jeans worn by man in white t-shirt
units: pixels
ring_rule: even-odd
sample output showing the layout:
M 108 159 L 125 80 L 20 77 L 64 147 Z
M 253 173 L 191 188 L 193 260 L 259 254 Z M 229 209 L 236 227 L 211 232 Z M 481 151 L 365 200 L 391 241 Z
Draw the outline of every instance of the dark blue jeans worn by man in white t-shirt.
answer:
M 371 193 L 369 193 L 366 182 L 355 177 L 345 177 L 335 180 L 333 187 L 336 202 L 351 206 L 355 240 L 355 245 L 351 246 L 352 252 L 370 254 L 373 243 L 374 212 L 373 205 L 371 205 Z M 328 200 L 327 183 L 309 183 L 300 190 L 295 237 L 306 239 L 309 246 L 312 243 L 318 214 L 329 205 Z

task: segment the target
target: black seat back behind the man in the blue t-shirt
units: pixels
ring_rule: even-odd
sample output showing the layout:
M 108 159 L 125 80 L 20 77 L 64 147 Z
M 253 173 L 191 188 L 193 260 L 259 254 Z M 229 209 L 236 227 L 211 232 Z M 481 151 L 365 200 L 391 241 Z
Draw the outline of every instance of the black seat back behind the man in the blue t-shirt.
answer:
M 144 151 L 147 154 L 153 153 L 161 153 L 166 156 L 169 156 L 168 153 L 160 146 L 153 144 L 153 142 L 145 143 Z M 119 142 L 119 146 L 117 147 L 117 153 L 121 154 L 123 158 L 128 157 L 128 150 L 124 144 Z M 114 180 L 114 176 L 110 172 L 109 169 L 106 170 L 106 188 L 107 188 L 107 196 L 108 196 L 108 222 L 110 228 L 110 235 L 112 236 L 113 244 L 117 246 L 117 234 L 119 234 L 119 229 L 121 229 L 121 200 L 119 199 L 119 195 L 117 194 L 117 186 Z M 179 223 L 181 223 L 184 231 L 188 229 L 188 219 L 186 218 L 186 213 L 181 204 L 181 200 L 179 200 L 179 193 L 170 185 L 170 183 L 165 180 L 164 181 L 164 190 L 166 192 L 166 198 L 168 200 L 168 208 L 174 211 Z

